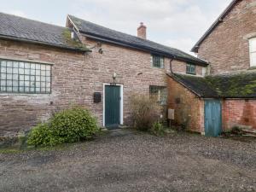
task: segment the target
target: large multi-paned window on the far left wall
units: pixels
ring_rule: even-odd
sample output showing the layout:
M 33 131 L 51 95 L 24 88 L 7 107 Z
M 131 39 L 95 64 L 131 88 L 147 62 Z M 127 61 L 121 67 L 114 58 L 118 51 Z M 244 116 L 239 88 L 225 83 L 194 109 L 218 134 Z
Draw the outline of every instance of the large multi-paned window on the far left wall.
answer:
M 50 93 L 51 66 L 0 59 L 0 92 Z

